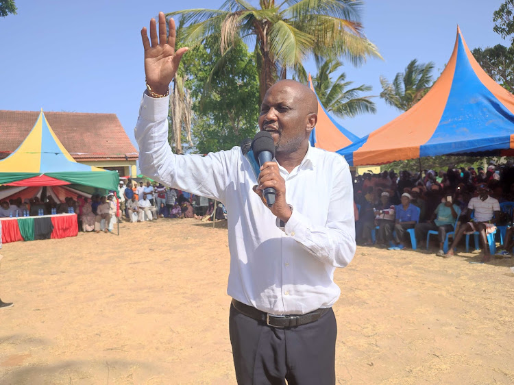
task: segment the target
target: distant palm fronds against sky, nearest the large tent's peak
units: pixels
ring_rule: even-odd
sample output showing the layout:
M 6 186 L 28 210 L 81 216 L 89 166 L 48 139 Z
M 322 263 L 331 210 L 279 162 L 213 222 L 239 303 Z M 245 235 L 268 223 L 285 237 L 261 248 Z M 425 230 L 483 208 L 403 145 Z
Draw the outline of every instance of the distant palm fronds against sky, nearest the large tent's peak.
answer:
M 385 77 L 380 76 L 380 84 L 383 88 L 380 97 L 398 110 L 408 110 L 430 90 L 433 70 L 433 62 L 417 64 L 417 60 L 414 59 L 408 64 L 404 73 L 396 74 L 392 84 Z

